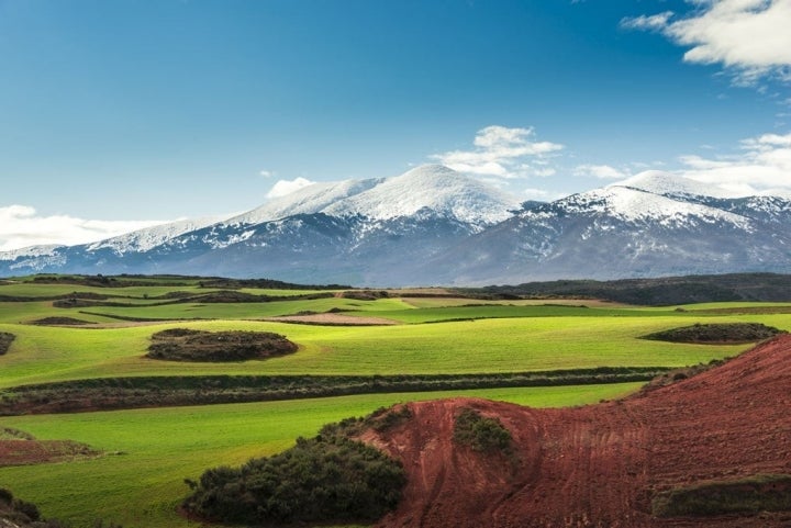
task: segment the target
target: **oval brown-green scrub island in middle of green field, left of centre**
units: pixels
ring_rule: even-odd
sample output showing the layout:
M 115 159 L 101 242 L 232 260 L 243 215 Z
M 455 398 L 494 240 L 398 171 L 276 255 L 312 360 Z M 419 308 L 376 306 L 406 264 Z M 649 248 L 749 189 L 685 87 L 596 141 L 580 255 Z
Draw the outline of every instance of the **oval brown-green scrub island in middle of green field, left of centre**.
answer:
M 297 351 L 271 332 L 203 332 L 171 328 L 154 334 L 146 357 L 170 361 L 246 361 Z

